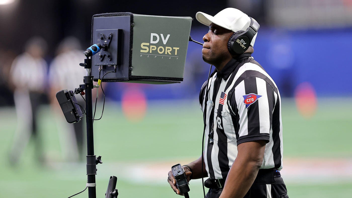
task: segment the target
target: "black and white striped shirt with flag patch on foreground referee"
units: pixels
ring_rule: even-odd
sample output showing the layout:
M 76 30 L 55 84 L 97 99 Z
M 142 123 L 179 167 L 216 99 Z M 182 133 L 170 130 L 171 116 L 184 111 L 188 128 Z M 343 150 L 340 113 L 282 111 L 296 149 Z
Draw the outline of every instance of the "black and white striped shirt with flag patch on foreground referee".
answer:
M 237 145 L 266 141 L 260 168 L 282 169 L 281 98 L 276 84 L 250 53 L 214 72 L 200 92 L 205 124 L 204 161 L 208 177 L 226 178 Z M 208 100 L 206 100 L 208 94 Z

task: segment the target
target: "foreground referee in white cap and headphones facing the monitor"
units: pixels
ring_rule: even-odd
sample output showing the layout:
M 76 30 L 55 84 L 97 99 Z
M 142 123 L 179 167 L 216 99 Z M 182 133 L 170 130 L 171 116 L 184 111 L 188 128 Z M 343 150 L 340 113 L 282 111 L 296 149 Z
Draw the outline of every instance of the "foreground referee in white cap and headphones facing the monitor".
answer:
M 199 159 L 183 166 L 187 178 L 207 174 L 207 198 L 287 198 L 280 174 L 280 93 L 251 57 L 259 24 L 235 8 L 226 8 L 214 17 L 198 12 L 196 19 L 209 26 L 202 56 L 216 70 L 199 96 L 205 150 Z M 180 194 L 171 171 L 168 182 Z

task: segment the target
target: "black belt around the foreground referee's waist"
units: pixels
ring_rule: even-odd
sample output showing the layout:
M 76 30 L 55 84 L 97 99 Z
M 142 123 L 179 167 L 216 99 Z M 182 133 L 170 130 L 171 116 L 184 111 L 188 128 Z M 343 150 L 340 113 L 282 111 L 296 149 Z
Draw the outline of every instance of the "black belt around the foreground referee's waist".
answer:
M 276 168 L 259 169 L 256 179 L 253 184 L 274 184 L 274 178 L 281 177 L 280 171 Z M 225 179 L 207 179 L 204 186 L 208 189 L 222 189 L 225 185 Z

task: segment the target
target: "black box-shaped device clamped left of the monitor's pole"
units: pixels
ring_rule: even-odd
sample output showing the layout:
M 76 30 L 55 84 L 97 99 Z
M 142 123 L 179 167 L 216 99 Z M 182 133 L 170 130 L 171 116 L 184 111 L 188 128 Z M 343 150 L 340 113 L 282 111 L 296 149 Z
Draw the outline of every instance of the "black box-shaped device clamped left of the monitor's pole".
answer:
M 67 89 L 58 91 L 56 99 L 68 123 L 79 122 L 81 120 L 81 117 L 83 117 L 82 110 L 76 104 L 77 100 L 73 91 L 68 91 Z

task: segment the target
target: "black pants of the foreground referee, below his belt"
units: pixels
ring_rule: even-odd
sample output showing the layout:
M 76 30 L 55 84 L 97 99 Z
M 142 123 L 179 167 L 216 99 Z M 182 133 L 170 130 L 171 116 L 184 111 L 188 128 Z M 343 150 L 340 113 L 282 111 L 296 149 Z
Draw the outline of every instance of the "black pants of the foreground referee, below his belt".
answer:
M 222 189 L 209 189 L 206 198 L 219 198 Z M 258 173 L 253 185 L 244 198 L 288 198 L 282 177 L 274 177 L 271 172 Z

